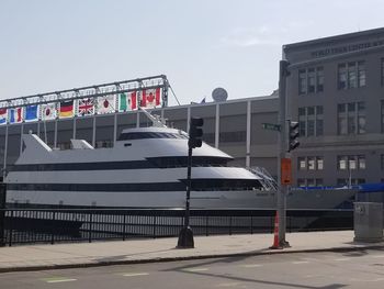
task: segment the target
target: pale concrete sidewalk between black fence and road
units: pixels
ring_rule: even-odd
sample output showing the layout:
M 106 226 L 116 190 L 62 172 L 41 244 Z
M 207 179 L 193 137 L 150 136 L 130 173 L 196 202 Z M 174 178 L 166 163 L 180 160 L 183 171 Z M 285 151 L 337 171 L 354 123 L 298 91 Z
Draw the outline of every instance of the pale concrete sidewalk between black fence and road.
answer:
M 195 236 L 195 248 L 176 248 L 178 238 L 131 240 L 58 245 L 0 247 L 0 271 L 103 266 L 239 255 L 384 248 L 354 243 L 353 231 L 290 233 L 291 248 L 269 249 L 273 234 Z

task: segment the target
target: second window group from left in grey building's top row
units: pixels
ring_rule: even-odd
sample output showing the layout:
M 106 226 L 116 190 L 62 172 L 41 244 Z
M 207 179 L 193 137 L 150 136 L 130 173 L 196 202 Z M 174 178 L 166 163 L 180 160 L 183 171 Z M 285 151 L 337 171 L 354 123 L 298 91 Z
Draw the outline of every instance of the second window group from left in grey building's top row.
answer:
M 365 62 L 351 62 L 338 65 L 338 89 L 365 87 Z

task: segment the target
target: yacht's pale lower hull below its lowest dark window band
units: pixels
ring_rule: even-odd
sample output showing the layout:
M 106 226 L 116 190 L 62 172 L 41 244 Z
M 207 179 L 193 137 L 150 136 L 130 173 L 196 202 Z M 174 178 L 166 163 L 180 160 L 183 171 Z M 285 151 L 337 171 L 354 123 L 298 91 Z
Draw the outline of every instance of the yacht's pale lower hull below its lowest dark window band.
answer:
M 353 190 L 295 190 L 286 197 L 292 210 L 329 210 L 354 196 Z M 7 202 L 35 205 L 183 209 L 185 191 L 23 191 L 9 190 Z M 274 209 L 275 191 L 192 191 L 192 209 Z

